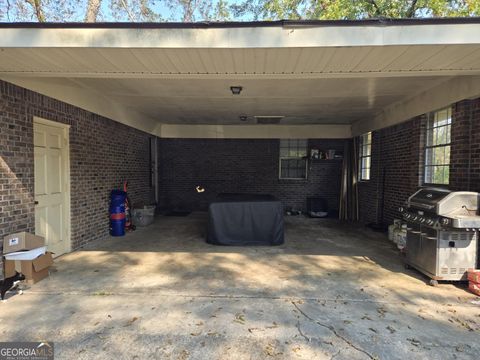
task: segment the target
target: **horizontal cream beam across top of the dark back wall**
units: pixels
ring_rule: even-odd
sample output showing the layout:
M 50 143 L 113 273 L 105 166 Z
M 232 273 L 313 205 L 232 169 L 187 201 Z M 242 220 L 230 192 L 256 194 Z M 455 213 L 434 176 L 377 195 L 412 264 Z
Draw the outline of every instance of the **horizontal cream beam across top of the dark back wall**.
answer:
M 348 139 L 350 125 L 176 125 L 162 124 L 162 138 L 197 139 Z

